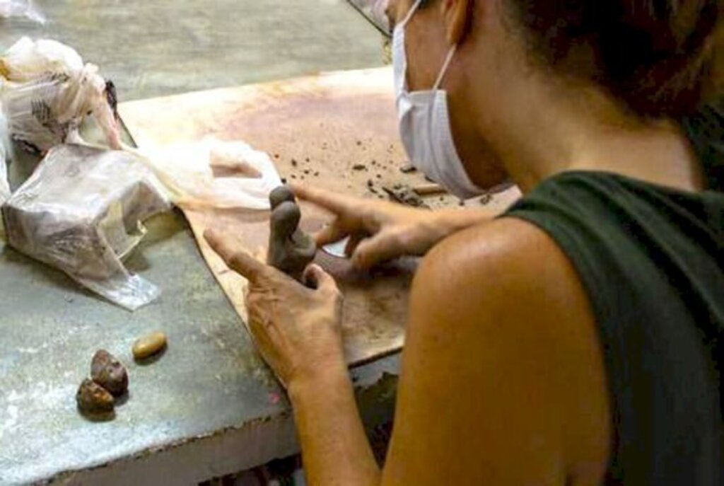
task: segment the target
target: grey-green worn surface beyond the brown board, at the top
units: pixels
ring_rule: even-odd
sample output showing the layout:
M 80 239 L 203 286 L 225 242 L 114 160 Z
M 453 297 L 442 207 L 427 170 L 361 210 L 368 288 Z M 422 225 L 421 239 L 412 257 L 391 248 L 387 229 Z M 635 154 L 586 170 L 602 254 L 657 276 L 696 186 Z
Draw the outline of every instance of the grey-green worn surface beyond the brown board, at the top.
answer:
M 382 37 L 346 0 L 36 0 L 49 22 L 0 21 L 0 47 L 55 38 L 121 101 L 382 65 Z

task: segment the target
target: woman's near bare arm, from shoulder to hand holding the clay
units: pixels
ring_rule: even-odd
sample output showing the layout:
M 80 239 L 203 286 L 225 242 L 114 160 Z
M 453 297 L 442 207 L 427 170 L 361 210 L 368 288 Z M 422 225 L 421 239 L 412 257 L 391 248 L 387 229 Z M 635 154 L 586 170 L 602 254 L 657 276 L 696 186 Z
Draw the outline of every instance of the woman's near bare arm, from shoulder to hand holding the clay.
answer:
M 257 345 L 287 383 L 313 485 L 377 485 L 340 340 L 340 296 L 209 242 L 250 280 Z M 279 305 L 282 303 L 282 305 Z M 595 485 L 610 424 L 594 319 L 571 264 L 500 219 L 426 256 L 411 297 L 384 485 Z

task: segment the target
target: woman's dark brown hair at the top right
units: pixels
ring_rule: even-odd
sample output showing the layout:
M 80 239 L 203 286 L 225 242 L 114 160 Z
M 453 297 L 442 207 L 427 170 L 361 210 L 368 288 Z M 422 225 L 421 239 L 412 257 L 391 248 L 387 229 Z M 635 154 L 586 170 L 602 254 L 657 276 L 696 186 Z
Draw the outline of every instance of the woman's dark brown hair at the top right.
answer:
M 724 69 L 724 0 L 507 0 L 531 52 L 554 69 L 571 49 L 586 73 L 633 112 L 681 117 L 717 99 Z

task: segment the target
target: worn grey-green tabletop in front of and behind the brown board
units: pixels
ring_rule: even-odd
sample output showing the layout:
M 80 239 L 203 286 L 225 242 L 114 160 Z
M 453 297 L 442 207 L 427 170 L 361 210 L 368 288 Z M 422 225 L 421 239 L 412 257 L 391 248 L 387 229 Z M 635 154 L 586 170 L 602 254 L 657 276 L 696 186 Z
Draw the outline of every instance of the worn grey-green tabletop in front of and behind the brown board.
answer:
M 101 66 L 122 100 L 383 59 L 379 34 L 344 0 L 35 3 L 49 24 L 0 20 L 0 48 L 21 35 L 67 42 Z M 14 187 L 32 162 L 12 164 Z M 147 226 L 127 267 L 163 295 L 135 313 L 0 243 L 0 484 L 194 484 L 297 450 L 282 390 L 185 220 L 172 213 Z M 167 352 L 135 364 L 132 341 L 153 330 L 169 335 Z M 98 348 L 130 374 L 130 396 L 109 422 L 90 422 L 75 409 Z

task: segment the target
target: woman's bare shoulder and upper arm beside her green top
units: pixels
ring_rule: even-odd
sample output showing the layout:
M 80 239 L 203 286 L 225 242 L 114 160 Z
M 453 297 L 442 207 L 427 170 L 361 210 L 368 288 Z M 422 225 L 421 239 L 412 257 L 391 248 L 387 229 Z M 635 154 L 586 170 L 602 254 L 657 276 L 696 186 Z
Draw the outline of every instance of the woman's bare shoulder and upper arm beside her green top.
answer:
M 426 256 L 397 416 L 391 483 L 601 478 L 609 411 L 595 323 L 575 271 L 544 232 L 498 219 Z

